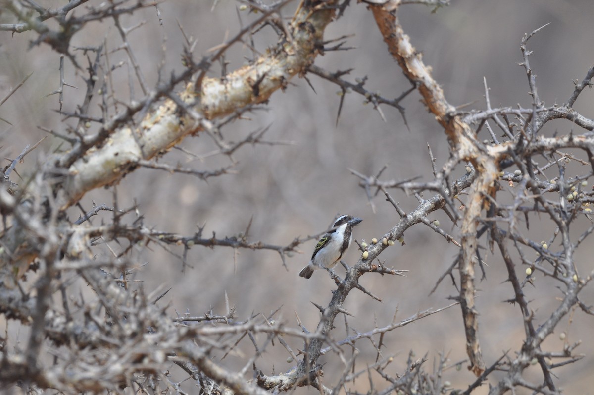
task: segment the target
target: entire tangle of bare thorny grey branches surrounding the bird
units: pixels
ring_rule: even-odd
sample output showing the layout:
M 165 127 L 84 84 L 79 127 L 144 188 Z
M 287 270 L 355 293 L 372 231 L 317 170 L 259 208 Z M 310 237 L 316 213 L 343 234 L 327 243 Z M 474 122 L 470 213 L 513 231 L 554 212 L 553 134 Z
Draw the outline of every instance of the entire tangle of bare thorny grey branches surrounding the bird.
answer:
M 77 126 L 69 130 L 68 135 L 46 130 L 69 143 L 68 151 L 54 153 L 36 174 L 17 184 L 14 174 L 18 165 L 40 142 L 32 148 L 27 146 L 20 155 L 10 159 L 10 164 L 3 169 L 4 177 L 0 178 L 0 314 L 30 328 L 26 347 L 14 347 L 8 335 L 0 336 L 1 383 L 18 384 L 31 393 L 46 388 L 63 393 L 121 392 L 125 388 L 146 393 L 183 393 L 181 384 L 191 378 L 204 393 L 264 394 L 311 385 L 320 393 L 335 395 L 341 388 L 346 389 L 347 383 L 354 385 L 357 377 L 367 375 L 370 394 L 470 393 L 486 381 L 490 385 L 489 394 L 515 393 L 516 387 L 528 388 L 532 393 L 560 393 L 554 369 L 576 363 L 583 355 L 574 353 L 579 341 L 571 344 L 565 341 L 563 349 L 549 350 L 545 340 L 564 319 L 569 317 L 571 322 L 574 312 L 593 314 L 589 303 L 580 300 L 583 297 L 580 292 L 592 281 L 594 271 L 583 262 L 577 262 L 575 257 L 577 250 L 586 244 L 584 240 L 594 231 L 594 225 L 590 224 L 577 238 L 570 233 L 570 228 L 579 221 L 591 221 L 591 204 L 594 203 L 594 192 L 587 189 L 588 180 L 594 176 L 594 135 L 590 133 L 594 130 L 594 120 L 573 108 L 584 89 L 592 87 L 594 66 L 587 70 L 582 81 L 574 82 L 567 101 L 545 106 L 538 95 L 538 81 L 529 62 L 528 46 L 529 40 L 538 37 L 543 26 L 523 37 L 520 46 L 523 57 L 520 65 L 526 73 L 532 98 L 530 108 L 493 108 L 485 79 L 485 109 L 460 111 L 445 99 L 440 83 L 432 77 L 431 67 L 424 63 L 421 52 L 412 45 L 398 18 L 401 5 L 425 4 L 437 10 L 448 2 L 368 0 L 365 3 L 388 51 L 411 84 L 400 96 L 388 99 L 365 89 L 368 77 L 355 79 L 355 83 L 343 79 L 350 73 L 349 68 L 330 73 L 314 65 L 315 58 L 323 51 L 346 49 L 343 43 L 325 46 L 328 42 L 324 42 L 323 35 L 326 26 L 346 12 L 349 0 L 302 1 L 290 20 L 281 14 L 288 1 L 268 5 L 248 0 L 242 2 L 242 7 L 260 16 L 247 26 L 242 25 L 239 33 L 200 62 L 195 62 L 192 54 L 196 42 L 184 34 L 185 70 L 172 74 L 168 80 L 160 76 L 159 83 L 151 87 L 128 42 L 129 33 L 136 27 L 125 27 L 121 17 L 141 8 L 157 7 L 157 2 L 121 0 L 100 7 L 86 3 L 86 0 L 71 1 L 53 10 L 32 0 L 0 0 L 2 16 L 6 12 L 14 18 L 14 23 L 0 24 L 0 30 L 29 32 L 35 35 L 31 45 L 46 43 L 60 54 L 59 89 L 50 93 L 59 93 L 60 112 L 64 87 L 71 86 L 64 76 L 64 58 L 79 70 L 74 54 L 82 53 L 88 63 L 84 101 L 77 111 L 65 114 L 66 119 L 77 120 Z M 83 4 L 86 11 L 76 15 L 71 12 Z M 52 23 L 48 23 L 50 19 Z M 111 78 L 111 73 L 123 66 L 110 64 L 112 52 L 107 43 L 86 48 L 73 48 L 70 44 L 77 32 L 94 21 L 111 21 L 119 33 L 122 45 L 118 49 L 125 51 L 128 59 L 125 65 L 130 70 L 130 102 L 127 104 L 118 99 Z M 264 26 L 274 30 L 278 42 L 260 52 L 252 36 Z M 240 42 L 252 49 L 254 58 L 244 67 L 228 73 L 225 54 Z M 222 62 L 223 76 L 208 77 L 207 73 L 216 62 Z M 105 80 L 99 80 L 100 73 L 105 74 Z M 189 265 L 188 251 L 199 246 L 230 247 L 234 251 L 271 250 L 279 253 L 285 264 L 287 256 L 299 252 L 302 243 L 316 237 L 296 237 L 282 245 L 252 241 L 250 225 L 228 237 L 217 237 L 214 232 L 211 237 L 204 236 L 204 227 L 185 236 L 157 230 L 144 224 L 137 206 L 118 207 L 114 186 L 139 167 L 194 175 L 204 181 L 223 174 L 232 176 L 231 169 L 236 164 L 233 155 L 243 146 L 277 145 L 279 142 L 263 140 L 267 128 L 230 142 L 223 137 L 221 128 L 241 119 L 245 112 L 266 104 L 276 90 L 289 87 L 292 77 L 306 73 L 340 86 L 343 94 L 337 118 L 344 95 L 349 92 L 364 95 L 365 101 L 372 103 L 384 120 L 380 105 L 396 108 L 404 118 L 405 110 L 400 102 L 418 90 L 426 108 L 443 128 L 450 157 L 440 167 L 429 148 L 434 176 L 431 181 L 424 181 L 419 175 L 406 180 L 382 180 L 387 167 L 374 176 L 352 170 L 369 202 L 374 205 L 372 200 L 381 194 L 400 219 L 370 244 L 359 243 L 362 255 L 355 265 L 343 262 L 344 278 L 331 272 L 336 288 L 326 306 L 314 303 L 320 311 L 315 328 L 307 328 L 298 315 L 298 328 L 295 328 L 283 321 L 278 311 L 241 319 L 227 297 L 223 313 L 210 309 L 203 315 L 188 311 L 169 316 L 166 306 L 159 306 L 169 290 L 156 289 L 145 294 L 144 289 L 136 287 L 137 281 L 141 281 L 138 280 L 141 264 L 135 255 L 137 250 L 150 249 L 157 244 L 180 259 L 184 268 Z M 5 96 L 0 106 L 27 78 Z M 141 88 L 140 98 L 136 98 L 134 84 Z M 181 90 L 176 92 L 180 85 Z M 101 117 L 90 114 L 94 95 L 100 101 Z M 571 126 L 585 131 L 545 136 L 541 130 L 551 120 L 567 120 Z M 213 140 L 216 151 L 196 155 L 179 146 L 188 136 L 204 134 Z M 159 162 L 172 148 L 200 159 L 224 155 L 230 165 L 204 171 Z M 571 161 L 588 165 L 588 170 L 575 170 L 569 165 Z M 461 169 L 462 175 L 459 175 Z M 84 209 L 81 198 L 102 186 L 112 187 L 112 205 L 93 203 L 93 208 Z M 416 199 L 415 209 L 407 212 L 403 208 L 396 197 L 400 192 Z M 431 196 L 424 197 L 426 193 Z M 67 209 L 72 206 L 81 212 L 74 221 L 67 215 Z M 432 214 L 441 210 L 451 221 L 451 230 L 431 219 Z M 546 241 L 533 240 L 528 231 L 530 220 L 551 224 L 554 230 Z M 396 242 L 404 244 L 405 232 L 421 223 L 459 248 L 459 255 L 435 285 L 437 288 L 441 280 L 449 276 L 456 288 L 455 303 L 400 321 L 394 314 L 390 324 L 383 327 L 376 323 L 374 328 L 362 331 L 351 328 L 350 313 L 345 306 L 350 292 L 360 290 L 365 296 L 381 301 L 374 290 L 365 288 L 359 279 L 363 275 L 402 275 L 405 271 L 386 267 L 380 255 Z M 460 231 L 456 231 L 457 226 Z M 101 248 L 111 255 L 108 258 L 98 256 Z M 488 275 L 484 264 L 489 253 L 497 256 L 505 268 L 506 284 L 510 286 L 510 299 L 506 302 L 517 306 L 524 333 L 520 349 L 505 351 L 495 358 L 484 356 L 481 350 L 481 312 L 475 305 L 476 266 L 479 265 L 483 276 Z M 530 258 L 534 253 L 536 258 Z M 560 290 L 552 311 L 541 312 L 538 316 L 526 295 L 526 286 L 535 284 L 536 275 L 550 278 Z M 33 284 L 27 284 L 27 280 Z M 82 293 L 75 296 L 73 289 L 77 281 L 93 291 L 91 297 Z M 54 294 L 61 296 L 61 306 L 54 302 L 58 299 Z M 476 380 L 465 390 L 451 388 L 442 380 L 447 356 L 440 355 L 434 371 L 429 374 L 425 371 L 426 358 L 415 360 L 412 352 L 405 370 L 391 375 L 386 368 L 394 357 L 384 357 L 384 338 L 397 328 L 455 305 L 460 305 L 462 311 L 469 369 Z M 337 338 L 334 330 L 340 314 L 344 316 L 347 330 L 343 338 Z M 358 347 L 363 342 L 372 344 L 376 359 L 357 370 L 357 363 L 360 365 L 362 359 Z M 280 374 L 267 374 L 264 368 L 259 368 L 265 365 L 260 360 L 274 343 L 282 346 L 292 368 Z M 254 349 L 247 357 L 245 344 Z M 46 348 L 50 350 L 48 355 L 53 356 L 52 363 L 40 358 Z M 352 350 L 352 354 L 347 355 L 346 350 Z M 245 357 L 241 358 L 244 366 L 229 368 L 225 364 L 228 355 Z M 342 363 L 343 372 L 336 380 L 324 379 L 321 356 L 332 356 Z M 554 359 L 559 362 L 553 363 Z M 531 376 L 536 382 L 527 380 L 524 375 L 532 363 L 538 363 L 540 378 Z M 172 364 L 185 372 L 185 378 L 172 377 Z M 497 378 L 491 375 L 494 371 L 500 372 Z M 387 386 L 380 389 L 377 377 L 385 380 Z M 347 393 L 356 391 L 347 390 Z

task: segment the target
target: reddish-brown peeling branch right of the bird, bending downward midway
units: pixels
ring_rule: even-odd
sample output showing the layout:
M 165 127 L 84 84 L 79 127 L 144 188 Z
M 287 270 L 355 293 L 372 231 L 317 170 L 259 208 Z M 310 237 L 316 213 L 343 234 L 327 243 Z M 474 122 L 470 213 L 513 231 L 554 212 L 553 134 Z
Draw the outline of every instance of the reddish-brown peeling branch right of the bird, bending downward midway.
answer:
M 431 76 L 429 68 L 422 61 L 421 54 L 410 43 L 397 18 L 400 2 L 391 0 L 382 5 L 370 5 L 375 21 L 388 45 L 388 51 L 396 59 L 405 76 L 418 86 L 429 111 L 444 127 L 451 149 L 459 158 L 472 162 L 478 177 L 473 181 L 462 221 L 462 264 L 460 264 L 460 305 L 466 329 L 466 349 L 472 371 L 478 376 L 485 370 L 481 347 L 478 341 L 478 312 L 474 307 L 474 266 L 476 262 L 477 219 L 484 205 L 484 195 L 492 190 L 497 180 L 497 158 L 485 150 L 469 124 L 453 115 L 455 108 L 444 96 L 444 92 Z

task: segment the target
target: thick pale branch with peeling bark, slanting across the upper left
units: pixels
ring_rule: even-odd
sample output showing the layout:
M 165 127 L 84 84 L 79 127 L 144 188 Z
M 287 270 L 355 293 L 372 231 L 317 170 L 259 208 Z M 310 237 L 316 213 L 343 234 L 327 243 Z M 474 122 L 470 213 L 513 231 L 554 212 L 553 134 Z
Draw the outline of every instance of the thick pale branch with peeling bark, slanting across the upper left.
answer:
M 187 111 L 180 115 L 178 105 L 168 99 L 151 111 L 139 127 L 121 127 L 113 131 L 100 148 L 87 149 L 68 168 L 62 208 L 74 204 L 89 190 L 118 182 L 134 170 L 138 162 L 168 151 L 186 136 L 211 128 L 208 119 L 267 101 L 274 91 L 286 87 L 293 76 L 304 73 L 318 54 L 324 29 L 334 17 L 335 11 L 328 7 L 332 5 L 329 3 L 333 2 L 303 2 L 290 23 L 292 36 L 282 39 L 254 64 L 223 79 L 204 79 L 201 92 L 195 92 L 193 84 L 189 83 L 179 96 L 188 105 L 199 102 L 192 112 L 194 117 Z M 142 105 L 135 107 L 124 115 L 133 114 Z M 64 163 L 62 158 L 54 162 Z

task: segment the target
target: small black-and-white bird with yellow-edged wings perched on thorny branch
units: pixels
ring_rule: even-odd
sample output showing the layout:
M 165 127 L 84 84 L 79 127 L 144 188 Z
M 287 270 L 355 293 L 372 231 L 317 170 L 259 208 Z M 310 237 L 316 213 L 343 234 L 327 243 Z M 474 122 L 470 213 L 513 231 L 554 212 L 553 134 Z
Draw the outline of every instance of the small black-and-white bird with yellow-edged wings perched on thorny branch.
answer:
M 342 258 L 343 253 L 349 248 L 353 241 L 353 226 L 361 222 L 361 218 L 341 215 L 334 221 L 332 229 L 324 234 L 317 246 L 311 261 L 304 267 L 299 275 L 309 278 L 314 274 L 315 269 L 331 269 L 336 262 Z

